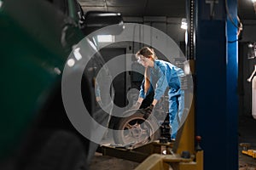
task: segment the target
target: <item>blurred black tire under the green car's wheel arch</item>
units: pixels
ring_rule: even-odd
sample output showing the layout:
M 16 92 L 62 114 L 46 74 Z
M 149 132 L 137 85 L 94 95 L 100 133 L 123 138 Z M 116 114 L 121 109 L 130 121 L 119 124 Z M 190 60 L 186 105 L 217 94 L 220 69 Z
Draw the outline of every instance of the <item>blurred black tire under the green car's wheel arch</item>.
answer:
M 87 170 L 84 148 L 73 133 L 53 133 L 26 170 Z

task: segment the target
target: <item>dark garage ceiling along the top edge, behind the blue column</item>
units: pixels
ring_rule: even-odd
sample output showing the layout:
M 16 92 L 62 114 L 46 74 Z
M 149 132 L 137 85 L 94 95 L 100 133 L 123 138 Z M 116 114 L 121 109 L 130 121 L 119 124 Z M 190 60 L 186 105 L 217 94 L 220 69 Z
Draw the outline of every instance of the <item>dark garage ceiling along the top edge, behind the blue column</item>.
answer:
M 103 10 L 119 12 L 123 16 L 168 16 L 184 18 L 186 0 L 79 0 L 84 12 Z M 256 20 L 251 0 L 238 0 L 241 20 Z

